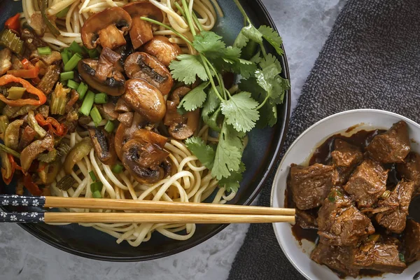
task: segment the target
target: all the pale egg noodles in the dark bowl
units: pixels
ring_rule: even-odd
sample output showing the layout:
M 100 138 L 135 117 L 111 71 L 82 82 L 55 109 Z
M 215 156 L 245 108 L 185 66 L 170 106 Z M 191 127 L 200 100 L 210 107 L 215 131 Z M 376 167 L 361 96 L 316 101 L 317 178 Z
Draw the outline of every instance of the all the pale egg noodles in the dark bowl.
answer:
M 131 1 L 113 0 L 49 0 L 47 15 L 59 29 L 60 36 L 53 36 L 48 29 L 42 40 L 48 43 L 51 48 L 59 50 L 69 47 L 73 41 L 81 43 L 80 31 L 83 23 L 90 15 L 98 13 L 106 8 L 114 6 L 124 6 Z M 176 6 L 182 6 L 180 0 L 150 0 L 153 5 L 162 10 L 165 25 L 169 25 L 183 36 L 193 39 L 193 35 L 188 27 L 186 18 Z M 221 8 L 216 0 L 190 0 L 188 8 L 190 13 L 195 12 L 204 30 L 210 30 L 216 24 L 217 16 L 223 16 Z M 31 22 L 40 16 L 38 1 L 22 0 L 23 13 L 22 23 Z M 65 17 L 56 18 L 54 15 L 69 7 Z M 197 30 L 198 27 L 196 26 Z M 183 52 L 194 53 L 195 50 L 187 45 L 182 38 L 165 29 L 156 27 L 155 35 L 167 36 L 169 41 L 180 45 Z M 204 126 L 196 133 L 204 141 L 218 141 L 209 136 L 209 127 Z M 85 137 L 89 137 L 88 132 L 73 132 L 66 135 L 69 146 L 75 146 Z M 66 174 L 61 170 L 57 175 L 56 181 L 51 185 L 52 195 L 61 197 L 92 197 L 90 184 L 92 179 L 89 172 L 93 171 L 99 181 L 104 184 L 102 197 L 123 199 L 123 200 L 160 200 L 168 202 L 203 202 L 209 197 L 213 197 L 211 202 L 224 204 L 232 200 L 236 193 L 225 194 L 225 188 L 218 188 L 218 181 L 211 176 L 209 169 L 204 167 L 195 155 L 190 153 L 182 141 L 170 140 L 165 144 L 165 150 L 169 152 L 169 161 L 172 164 L 172 174 L 158 183 L 144 184 L 137 182 L 129 172 L 125 170 L 120 174 L 114 174 L 109 165 L 104 165 L 94 155 L 94 149 L 90 151 L 82 160 L 76 162 L 76 171 L 71 176 L 76 180 L 68 190 L 57 188 L 57 182 Z M 210 198 L 209 198 L 210 200 Z M 61 209 L 62 211 L 89 212 L 111 210 L 92 210 L 92 209 Z M 126 240 L 132 246 L 139 246 L 141 242 L 151 239 L 154 231 L 176 240 L 186 240 L 193 236 L 195 224 L 152 224 L 152 223 L 80 223 L 85 227 L 92 227 L 117 238 L 117 243 Z

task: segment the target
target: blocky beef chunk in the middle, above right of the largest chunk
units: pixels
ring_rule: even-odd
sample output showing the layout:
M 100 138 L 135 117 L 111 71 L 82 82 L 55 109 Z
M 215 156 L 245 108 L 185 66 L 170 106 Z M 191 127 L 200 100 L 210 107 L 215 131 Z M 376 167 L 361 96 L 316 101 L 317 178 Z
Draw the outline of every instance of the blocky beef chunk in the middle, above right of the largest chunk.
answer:
M 356 200 L 359 209 L 371 207 L 386 190 L 387 178 L 388 170 L 379 162 L 364 160 L 351 174 L 344 190 Z

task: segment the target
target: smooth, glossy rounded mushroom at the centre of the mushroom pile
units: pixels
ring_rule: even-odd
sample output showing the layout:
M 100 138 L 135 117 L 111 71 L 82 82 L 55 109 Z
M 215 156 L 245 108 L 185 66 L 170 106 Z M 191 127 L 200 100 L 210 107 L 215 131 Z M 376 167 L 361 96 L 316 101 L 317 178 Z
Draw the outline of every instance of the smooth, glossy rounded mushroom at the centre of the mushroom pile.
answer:
M 158 123 L 165 116 L 166 106 L 162 93 L 146 80 L 127 80 L 125 94 L 121 98 L 151 123 Z

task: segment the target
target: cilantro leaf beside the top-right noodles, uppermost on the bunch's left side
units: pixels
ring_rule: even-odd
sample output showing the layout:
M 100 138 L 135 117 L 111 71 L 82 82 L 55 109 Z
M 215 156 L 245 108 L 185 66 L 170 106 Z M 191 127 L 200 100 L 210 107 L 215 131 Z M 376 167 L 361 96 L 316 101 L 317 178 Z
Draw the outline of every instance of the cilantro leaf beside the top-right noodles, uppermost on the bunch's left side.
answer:
M 222 38 L 212 31 L 201 31 L 199 35 L 194 36 L 193 46 L 207 58 L 221 57 L 226 47 L 225 43 L 221 41 Z

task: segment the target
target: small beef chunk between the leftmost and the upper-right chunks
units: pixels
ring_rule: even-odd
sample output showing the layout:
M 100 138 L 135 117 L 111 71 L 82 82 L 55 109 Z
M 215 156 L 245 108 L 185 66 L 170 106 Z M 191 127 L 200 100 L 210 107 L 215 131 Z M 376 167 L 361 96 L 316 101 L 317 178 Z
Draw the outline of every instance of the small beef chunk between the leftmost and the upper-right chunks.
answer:
M 337 167 L 337 184 L 342 186 L 349 179 L 354 167 L 363 160 L 363 153 L 360 151 L 360 148 L 342 139 L 336 139 L 334 146 L 335 148 L 331 153 L 331 158 Z

